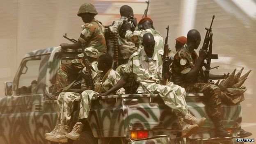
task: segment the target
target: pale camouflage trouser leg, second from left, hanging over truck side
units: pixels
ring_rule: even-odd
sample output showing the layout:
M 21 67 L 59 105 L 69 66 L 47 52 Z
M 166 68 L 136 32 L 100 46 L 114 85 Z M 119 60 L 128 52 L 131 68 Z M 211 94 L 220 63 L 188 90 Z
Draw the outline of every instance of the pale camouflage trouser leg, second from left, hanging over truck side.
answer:
M 89 115 L 89 110 L 91 107 L 91 99 L 92 97 L 98 95 L 96 91 L 93 90 L 85 90 L 82 92 L 82 98 L 80 102 L 80 112 L 78 119 L 87 119 Z

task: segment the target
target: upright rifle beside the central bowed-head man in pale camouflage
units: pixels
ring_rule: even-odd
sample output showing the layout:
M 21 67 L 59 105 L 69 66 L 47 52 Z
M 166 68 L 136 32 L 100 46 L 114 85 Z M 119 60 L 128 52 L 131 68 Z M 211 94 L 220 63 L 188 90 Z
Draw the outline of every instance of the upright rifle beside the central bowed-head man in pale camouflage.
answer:
M 164 55 L 163 55 L 163 66 L 162 66 L 162 85 L 167 85 L 168 84 L 168 78 L 167 78 L 167 70 L 168 70 L 168 65 L 167 65 L 167 57 L 169 53 L 169 44 L 168 44 L 168 34 L 169 34 L 169 25 L 166 27 L 167 30 L 167 35 L 165 37 L 165 47 L 164 47 Z

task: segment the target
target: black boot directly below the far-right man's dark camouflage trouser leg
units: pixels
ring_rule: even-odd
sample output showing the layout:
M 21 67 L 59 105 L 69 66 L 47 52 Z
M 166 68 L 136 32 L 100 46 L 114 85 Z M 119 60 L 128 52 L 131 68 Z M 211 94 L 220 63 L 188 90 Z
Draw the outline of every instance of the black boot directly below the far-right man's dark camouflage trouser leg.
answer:
M 226 131 L 222 125 L 222 122 L 220 119 L 218 119 L 217 121 L 214 121 L 214 125 L 215 125 L 215 136 L 216 137 L 231 137 L 232 134 L 229 133 L 228 131 Z

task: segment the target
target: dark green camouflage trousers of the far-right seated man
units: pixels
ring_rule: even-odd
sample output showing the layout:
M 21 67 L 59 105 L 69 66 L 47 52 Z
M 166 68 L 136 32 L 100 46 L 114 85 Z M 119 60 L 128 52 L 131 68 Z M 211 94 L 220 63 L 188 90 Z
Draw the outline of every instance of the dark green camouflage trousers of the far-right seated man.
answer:
M 217 85 L 197 82 L 185 88 L 189 93 L 203 93 L 206 96 L 206 108 L 212 117 L 221 115 L 221 90 Z

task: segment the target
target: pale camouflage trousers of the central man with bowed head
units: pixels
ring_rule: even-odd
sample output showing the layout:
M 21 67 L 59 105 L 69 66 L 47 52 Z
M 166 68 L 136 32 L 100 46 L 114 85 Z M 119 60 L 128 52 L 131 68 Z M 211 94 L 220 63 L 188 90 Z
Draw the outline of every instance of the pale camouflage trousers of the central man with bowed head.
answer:
M 183 87 L 174 85 L 173 82 L 169 82 L 168 86 L 146 82 L 140 82 L 140 84 L 144 85 L 153 94 L 159 94 L 165 105 L 171 107 L 178 118 L 185 117 L 188 113 L 185 101 L 186 91 Z

